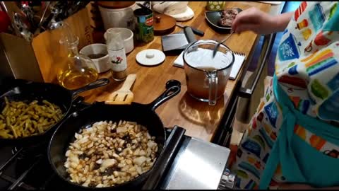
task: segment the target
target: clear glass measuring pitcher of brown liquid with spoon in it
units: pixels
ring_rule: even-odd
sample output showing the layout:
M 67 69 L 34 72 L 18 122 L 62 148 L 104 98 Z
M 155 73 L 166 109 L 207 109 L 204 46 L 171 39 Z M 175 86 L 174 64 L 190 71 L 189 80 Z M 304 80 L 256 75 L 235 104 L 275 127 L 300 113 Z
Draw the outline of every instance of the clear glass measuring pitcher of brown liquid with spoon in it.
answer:
M 220 45 L 213 58 L 215 40 L 198 40 L 184 50 L 184 71 L 187 92 L 193 98 L 215 105 L 225 93 L 234 54 L 226 45 Z

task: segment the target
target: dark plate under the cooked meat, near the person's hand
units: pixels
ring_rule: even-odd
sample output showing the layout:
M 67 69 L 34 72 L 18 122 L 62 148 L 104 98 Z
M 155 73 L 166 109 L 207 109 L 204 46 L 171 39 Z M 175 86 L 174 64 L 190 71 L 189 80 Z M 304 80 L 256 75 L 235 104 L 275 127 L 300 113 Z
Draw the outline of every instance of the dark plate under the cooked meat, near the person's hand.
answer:
M 224 10 L 220 10 L 220 11 L 206 11 L 205 12 L 206 21 L 210 25 L 211 28 L 213 28 L 214 30 L 217 30 L 218 32 L 230 33 L 230 30 L 232 29 L 231 25 L 220 24 L 222 11 L 225 11 L 228 9 L 235 9 L 238 11 L 238 14 L 242 11 L 241 8 L 225 8 Z

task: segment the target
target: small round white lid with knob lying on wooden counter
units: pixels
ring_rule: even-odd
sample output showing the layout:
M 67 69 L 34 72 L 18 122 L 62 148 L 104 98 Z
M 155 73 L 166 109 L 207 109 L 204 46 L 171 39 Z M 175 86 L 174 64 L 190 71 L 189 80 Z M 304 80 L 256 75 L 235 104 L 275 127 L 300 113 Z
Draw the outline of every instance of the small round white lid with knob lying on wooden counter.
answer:
M 147 49 L 136 54 L 136 62 L 144 66 L 155 66 L 164 62 L 164 52 L 156 49 Z

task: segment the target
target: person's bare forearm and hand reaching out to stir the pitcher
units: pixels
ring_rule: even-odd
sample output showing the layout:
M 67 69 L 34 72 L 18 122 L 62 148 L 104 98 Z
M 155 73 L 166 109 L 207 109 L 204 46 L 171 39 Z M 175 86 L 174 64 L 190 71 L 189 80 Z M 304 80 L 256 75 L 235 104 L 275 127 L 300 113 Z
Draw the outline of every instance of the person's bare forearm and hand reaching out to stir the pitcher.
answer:
M 285 30 L 293 12 L 271 16 L 258 8 L 252 7 L 240 12 L 232 23 L 235 33 L 251 30 L 257 34 L 277 33 Z

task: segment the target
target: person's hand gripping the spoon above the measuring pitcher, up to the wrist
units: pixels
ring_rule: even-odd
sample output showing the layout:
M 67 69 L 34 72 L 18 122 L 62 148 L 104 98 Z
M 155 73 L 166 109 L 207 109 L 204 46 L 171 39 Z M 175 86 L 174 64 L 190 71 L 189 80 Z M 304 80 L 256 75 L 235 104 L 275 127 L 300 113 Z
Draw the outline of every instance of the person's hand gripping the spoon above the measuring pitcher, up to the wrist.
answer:
M 273 16 L 255 7 L 247 8 L 234 18 L 232 30 L 234 33 L 241 33 L 246 30 L 252 30 L 257 34 L 273 33 Z

